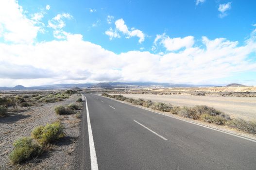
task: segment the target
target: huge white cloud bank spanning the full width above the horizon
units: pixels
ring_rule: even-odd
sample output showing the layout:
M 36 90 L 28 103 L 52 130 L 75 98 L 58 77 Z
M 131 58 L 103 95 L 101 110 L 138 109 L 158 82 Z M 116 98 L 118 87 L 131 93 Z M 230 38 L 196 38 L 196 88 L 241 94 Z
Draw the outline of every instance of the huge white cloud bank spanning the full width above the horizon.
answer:
M 193 38 L 166 39 L 173 43 Z M 162 37 L 159 40 L 163 40 Z M 0 65 L 6 66 L 0 67 L 0 86 L 97 81 L 190 84 L 214 84 L 218 81 L 220 84 L 222 78 L 246 71 L 256 72 L 256 62 L 248 59 L 251 53 L 256 52 L 256 31 L 243 46 L 239 46 L 237 41 L 225 38 L 211 40 L 205 36 L 202 43 L 201 47 L 193 47 L 192 42 L 174 45 L 175 48 L 168 48 L 185 47 L 185 50 L 159 54 L 149 51 L 115 54 L 83 41 L 81 34 L 68 34 L 66 40 L 34 45 L 0 44 Z M 6 63 L 16 68 L 15 71 L 7 73 L 5 68 L 10 67 Z M 32 78 L 37 78 L 37 72 L 38 81 L 32 81 Z M 253 83 L 256 85 L 256 81 Z

